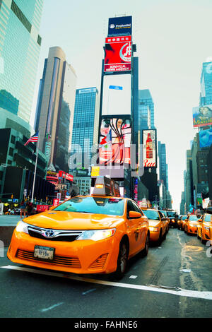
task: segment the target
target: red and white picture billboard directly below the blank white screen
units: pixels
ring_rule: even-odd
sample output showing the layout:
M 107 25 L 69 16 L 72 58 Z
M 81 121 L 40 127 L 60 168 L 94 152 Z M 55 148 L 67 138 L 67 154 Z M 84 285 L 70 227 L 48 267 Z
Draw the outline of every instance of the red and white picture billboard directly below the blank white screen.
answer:
M 131 119 L 102 119 L 100 164 L 130 164 Z

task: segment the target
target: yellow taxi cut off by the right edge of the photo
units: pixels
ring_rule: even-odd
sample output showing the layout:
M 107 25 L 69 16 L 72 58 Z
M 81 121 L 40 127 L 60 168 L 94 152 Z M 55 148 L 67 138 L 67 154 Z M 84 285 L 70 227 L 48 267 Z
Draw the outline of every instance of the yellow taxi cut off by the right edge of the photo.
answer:
M 212 244 L 212 214 L 204 213 L 198 220 L 197 237 L 201 239 L 201 243 L 211 241 Z

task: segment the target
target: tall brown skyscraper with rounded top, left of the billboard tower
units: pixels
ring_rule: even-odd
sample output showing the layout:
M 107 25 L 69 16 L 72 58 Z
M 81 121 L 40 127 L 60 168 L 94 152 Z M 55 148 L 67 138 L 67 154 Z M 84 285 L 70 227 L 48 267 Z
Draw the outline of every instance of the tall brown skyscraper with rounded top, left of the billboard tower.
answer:
M 56 170 L 69 171 L 76 73 L 60 47 L 50 47 L 45 59 L 35 115 L 40 150 Z

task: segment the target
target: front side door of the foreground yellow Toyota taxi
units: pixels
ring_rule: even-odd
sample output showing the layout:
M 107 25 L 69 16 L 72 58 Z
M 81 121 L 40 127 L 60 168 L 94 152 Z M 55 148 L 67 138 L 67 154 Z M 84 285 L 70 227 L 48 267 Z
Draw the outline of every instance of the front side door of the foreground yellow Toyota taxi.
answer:
M 143 228 L 143 218 L 129 218 L 129 211 L 136 211 L 141 213 L 139 206 L 133 201 L 127 201 L 126 218 L 128 221 L 128 236 L 129 236 L 129 256 L 139 251 L 145 244 L 145 228 Z M 142 215 L 142 213 L 141 213 Z M 144 223 L 145 224 L 145 223 Z

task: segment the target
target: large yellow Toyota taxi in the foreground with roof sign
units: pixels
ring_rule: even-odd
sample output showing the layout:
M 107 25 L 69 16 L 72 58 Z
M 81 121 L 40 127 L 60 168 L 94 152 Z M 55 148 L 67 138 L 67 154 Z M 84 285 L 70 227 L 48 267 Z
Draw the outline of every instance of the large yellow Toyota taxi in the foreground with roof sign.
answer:
M 122 278 L 132 256 L 148 254 L 149 236 L 148 218 L 139 206 L 112 196 L 108 179 L 100 177 L 92 195 L 70 198 L 21 220 L 7 256 L 37 268 Z

